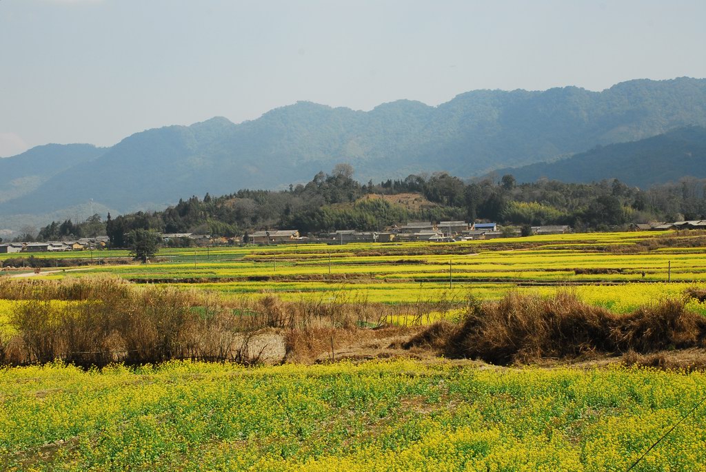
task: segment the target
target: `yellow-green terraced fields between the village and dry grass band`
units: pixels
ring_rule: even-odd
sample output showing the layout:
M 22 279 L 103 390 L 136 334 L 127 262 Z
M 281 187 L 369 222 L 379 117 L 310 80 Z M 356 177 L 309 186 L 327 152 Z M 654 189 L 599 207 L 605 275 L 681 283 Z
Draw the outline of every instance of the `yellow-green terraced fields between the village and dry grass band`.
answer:
M 336 298 L 373 303 L 501 298 L 509 290 L 554 294 L 570 287 L 590 303 L 629 311 L 681 296 L 706 282 L 706 236 L 662 232 L 567 234 L 463 243 L 381 243 L 164 249 L 160 262 L 110 265 L 124 251 L 95 251 L 105 265 L 58 270 L 43 279 L 115 274 L 231 296 Z M 56 258 L 41 255 L 47 270 Z M 670 282 L 670 283 L 667 283 Z M 700 308 L 700 307 L 698 307 Z

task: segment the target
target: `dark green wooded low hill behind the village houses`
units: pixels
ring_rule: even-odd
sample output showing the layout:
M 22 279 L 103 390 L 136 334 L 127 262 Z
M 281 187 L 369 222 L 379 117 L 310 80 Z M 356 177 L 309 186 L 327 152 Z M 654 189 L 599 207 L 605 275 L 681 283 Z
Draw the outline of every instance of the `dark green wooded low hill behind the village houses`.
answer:
M 429 204 L 414 209 L 394 199 L 372 198 L 402 193 L 419 193 Z M 126 235 L 136 229 L 231 237 L 258 229 L 293 228 L 316 234 L 337 229 L 381 231 L 414 220 L 484 219 L 517 226 L 568 224 L 585 231 L 705 218 L 706 179 L 682 178 L 642 190 L 616 179 L 517 184 L 509 174 L 463 181 L 440 172 L 361 184 L 354 180 L 352 167 L 338 164 L 330 174 L 319 172 L 308 183 L 286 190 L 244 189 L 220 197 L 207 193 L 158 212 L 114 218 L 109 214 L 106 221 L 95 215 L 80 224 L 52 222 L 38 238 L 107 234 L 112 247 L 126 247 Z

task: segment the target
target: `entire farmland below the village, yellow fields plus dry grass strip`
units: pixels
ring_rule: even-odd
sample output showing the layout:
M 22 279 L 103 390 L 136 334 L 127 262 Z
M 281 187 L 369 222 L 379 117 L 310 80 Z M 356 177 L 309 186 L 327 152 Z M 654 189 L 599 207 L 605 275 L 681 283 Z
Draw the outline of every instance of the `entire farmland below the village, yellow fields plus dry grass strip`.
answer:
M 706 469 L 705 234 L 93 256 L 0 277 L 0 348 L 84 367 L 0 370 L 2 470 L 626 471 L 685 415 L 632 470 Z M 253 327 L 285 363 L 152 361 Z M 440 358 L 459 332 L 509 361 Z

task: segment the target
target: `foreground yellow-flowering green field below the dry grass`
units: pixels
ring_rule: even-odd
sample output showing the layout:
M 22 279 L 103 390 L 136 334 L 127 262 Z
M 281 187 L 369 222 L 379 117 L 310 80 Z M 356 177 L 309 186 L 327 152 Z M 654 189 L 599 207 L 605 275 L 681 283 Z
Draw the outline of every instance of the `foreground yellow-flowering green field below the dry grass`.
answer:
M 7 471 L 626 471 L 700 373 L 167 363 L 0 371 Z M 704 413 L 633 469 L 706 468 Z

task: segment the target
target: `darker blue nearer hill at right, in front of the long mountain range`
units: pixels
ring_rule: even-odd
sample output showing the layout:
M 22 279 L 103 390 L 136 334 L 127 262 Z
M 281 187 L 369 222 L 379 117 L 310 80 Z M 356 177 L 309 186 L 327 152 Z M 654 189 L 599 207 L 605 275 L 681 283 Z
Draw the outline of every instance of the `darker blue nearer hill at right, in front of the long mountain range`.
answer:
M 652 138 L 596 147 L 556 162 L 499 169 L 498 174 L 513 174 L 519 182 L 538 178 L 563 182 L 618 178 L 640 188 L 684 176 L 706 178 L 706 128 L 678 128 Z

